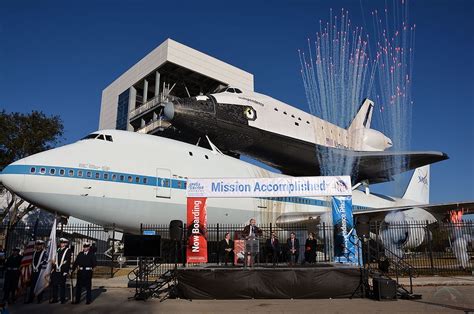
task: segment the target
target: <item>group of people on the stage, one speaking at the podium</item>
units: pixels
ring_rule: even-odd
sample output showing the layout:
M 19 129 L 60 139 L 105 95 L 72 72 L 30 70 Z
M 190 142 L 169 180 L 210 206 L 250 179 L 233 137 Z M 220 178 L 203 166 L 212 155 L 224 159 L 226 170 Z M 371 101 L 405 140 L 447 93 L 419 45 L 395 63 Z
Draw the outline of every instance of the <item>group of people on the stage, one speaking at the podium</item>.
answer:
M 240 233 L 237 233 L 237 235 L 246 242 L 244 265 L 251 266 L 255 262 L 255 257 L 258 252 L 253 252 L 251 244 L 249 243 L 252 243 L 252 241 L 260 243 L 264 232 L 256 226 L 256 220 L 252 218 L 249 224 L 246 225 Z M 273 265 L 278 264 L 282 258 L 286 259 L 289 266 L 297 265 L 300 262 L 312 264 L 316 262 L 317 245 L 318 243 L 314 233 L 309 232 L 304 243 L 304 257 L 300 261 L 300 241 L 296 237 L 296 233 L 291 232 L 290 237 L 286 239 L 284 243 L 281 243 L 276 232 L 271 232 L 269 237 L 265 240 L 263 252 L 266 260 L 271 260 Z M 218 250 L 219 264 L 225 266 L 235 264 L 235 246 L 229 232 L 225 233 L 224 239 L 219 242 Z

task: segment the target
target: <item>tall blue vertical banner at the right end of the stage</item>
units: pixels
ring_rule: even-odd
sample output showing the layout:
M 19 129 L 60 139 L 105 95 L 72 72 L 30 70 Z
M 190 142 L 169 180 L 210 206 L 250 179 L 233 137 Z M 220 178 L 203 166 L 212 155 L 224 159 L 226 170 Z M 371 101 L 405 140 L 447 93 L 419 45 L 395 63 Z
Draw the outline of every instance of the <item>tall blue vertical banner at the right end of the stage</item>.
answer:
M 352 216 L 352 196 L 332 197 L 334 261 L 360 265 L 360 244 Z

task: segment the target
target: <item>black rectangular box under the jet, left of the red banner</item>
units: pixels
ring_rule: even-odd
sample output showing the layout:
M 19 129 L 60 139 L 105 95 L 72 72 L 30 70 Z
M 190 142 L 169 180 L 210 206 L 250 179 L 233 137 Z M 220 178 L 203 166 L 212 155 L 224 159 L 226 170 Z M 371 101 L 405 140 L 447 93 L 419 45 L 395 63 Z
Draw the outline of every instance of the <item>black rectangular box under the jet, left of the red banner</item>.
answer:
M 123 256 L 159 257 L 161 254 L 161 236 L 124 234 Z

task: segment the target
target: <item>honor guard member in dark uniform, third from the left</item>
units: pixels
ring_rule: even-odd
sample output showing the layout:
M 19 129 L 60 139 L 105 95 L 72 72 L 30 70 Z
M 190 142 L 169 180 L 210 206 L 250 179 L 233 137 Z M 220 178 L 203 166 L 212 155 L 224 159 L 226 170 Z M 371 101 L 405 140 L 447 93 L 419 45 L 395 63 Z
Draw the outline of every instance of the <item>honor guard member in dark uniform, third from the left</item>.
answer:
M 71 249 L 68 248 L 69 241 L 65 238 L 59 239 L 57 260 L 53 264 L 51 273 L 51 285 L 53 286 L 53 299 L 51 303 L 58 302 L 58 288 L 61 304 L 66 303 L 66 280 L 71 269 Z

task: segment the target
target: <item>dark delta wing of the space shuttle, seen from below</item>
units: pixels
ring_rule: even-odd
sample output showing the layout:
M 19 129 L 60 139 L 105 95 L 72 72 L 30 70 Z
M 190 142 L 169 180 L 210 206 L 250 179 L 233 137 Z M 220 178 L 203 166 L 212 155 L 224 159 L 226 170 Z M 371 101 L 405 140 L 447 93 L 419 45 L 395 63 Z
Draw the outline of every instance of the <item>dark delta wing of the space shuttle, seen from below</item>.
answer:
M 437 151 L 351 151 L 315 145 L 280 134 L 273 133 L 270 136 L 263 132 L 252 136 L 251 139 L 242 138 L 238 143 L 244 147 L 236 149 L 235 152 L 248 155 L 291 176 L 343 174 L 341 170 L 337 170 L 337 166 L 321 165 L 321 162 L 326 160 L 333 164 L 353 165 L 351 167 L 353 184 L 364 180 L 372 184 L 392 181 L 394 175 L 449 158 L 445 153 Z M 221 146 L 225 147 L 224 144 Z M 324 168 L 329 170 L 329 173 L 322 171 Z M 337 173 L 331 173 L 330 170 L 333 168 Z

